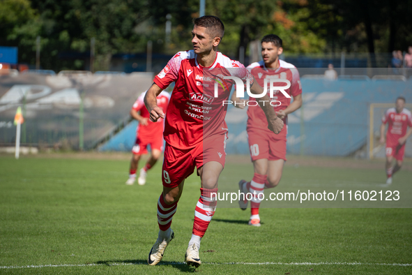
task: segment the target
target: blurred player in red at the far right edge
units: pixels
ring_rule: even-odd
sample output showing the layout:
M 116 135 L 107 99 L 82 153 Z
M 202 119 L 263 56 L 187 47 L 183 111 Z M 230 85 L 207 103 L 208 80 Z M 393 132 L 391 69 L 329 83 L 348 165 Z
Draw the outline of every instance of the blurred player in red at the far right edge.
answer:
M 412 133 L 412 115 L 411 111 L 404 108 L 405 103 L 405 98 L 399 96 L 395 101 L 395 108 L 388 109 L 382 117 L 381 144 L 385 143 L 385 128 L 386 124 L 388 124 L 385 149 L 386 184 L 392 184 L 392 175 L 401 169 L 406 140 Z M 393 158 L 396 159 L 395 166 L 392 166 Z

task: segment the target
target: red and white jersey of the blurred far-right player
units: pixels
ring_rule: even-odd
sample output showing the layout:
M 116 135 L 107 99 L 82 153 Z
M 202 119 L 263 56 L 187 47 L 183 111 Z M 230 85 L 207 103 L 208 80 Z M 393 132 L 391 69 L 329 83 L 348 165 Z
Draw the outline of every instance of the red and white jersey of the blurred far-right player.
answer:
M 406 135 L 408 126 L 412 127 L 411 111 L 404 108 L 402 112 L 397 113 L 395 108 L 390 108 L 383 115 L 382 123 L 388 124 L 388 132 L 386 133 L 386 145 L 396 145 L 399 143 L 399 137 Z

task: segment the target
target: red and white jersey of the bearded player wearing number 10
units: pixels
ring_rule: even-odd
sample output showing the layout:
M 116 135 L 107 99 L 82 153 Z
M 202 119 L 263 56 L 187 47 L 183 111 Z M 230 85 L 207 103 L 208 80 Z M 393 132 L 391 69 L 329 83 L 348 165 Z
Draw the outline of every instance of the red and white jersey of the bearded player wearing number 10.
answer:
M 284 79 L 291 82 L 291 87 L 289 87 L 289 89 L 285 89 L 289 96 L 297 96 L 298 94 L 302 94 L 302 84 L 300 84 L 299 72 L 292 64 L 279 60 L 279 68 L 266 68 L 264 61 L 259 61 L 250 64 L 247 68 L 251 70 L 252 75 L 261 87 L 264 87 L 265 79 Z M 268 84 L 266 85 L 268 86 Z M 285 86 L 285 83 L 275 82 L 274 86 Z M 267 91 L 268 96 L 270 97 L 269 87 Z M 256 101 L 256 98 L 250 97 L 249 100 Z M 286 107 L 288 107 L 291 103 L 291 98 L 287 98 L 280 91 L 275 91 L 273 93 L 273 98 L 270 98 L 270 101 L 280 101 L 280 106 L 273 107 L 275 112 L 277 112 L 279 110 L 286 109 Z M 274 105 L 278 104 L 279 103 Z M 287 117 L 284 118 L 284 124 L 287 126 Z M 252 104 L 250 104 L 250 106 L 247 107 L 247 128 L 268 130 L 268 121 L 266 120 L 264 111 L 261 110 L 259 106 L 252 106 Z M 282 129 L 279 135 L 286 136 L 286 134 L 287 127 L 284 127 L 284 130 Z

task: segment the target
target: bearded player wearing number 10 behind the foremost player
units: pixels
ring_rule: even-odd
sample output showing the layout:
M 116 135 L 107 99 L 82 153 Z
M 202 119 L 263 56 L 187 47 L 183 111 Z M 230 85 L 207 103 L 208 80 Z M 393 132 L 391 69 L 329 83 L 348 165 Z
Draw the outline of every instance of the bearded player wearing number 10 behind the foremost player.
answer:
M 275 91 L 273 98 L 270 101 L 277 101 L 273 107 L 277 117 L 284 121 L 286 127 L 280 131 L 279 135 L 268 131 L 268 124 L 262 120 L 265 114 L 260 108 L 248 107 L 247 109 L 247 136 L 249 140 L 250 156 L 254 167 L 254 176 L 252 181 L 239 181 L 239 189 L 241 193 L 254 193 L 250 202 L 251 216 L 249 225 L 260 226 L 259 193 L 264 192 L 264 188 L 274 188 L 279 184 L 282 177 L 284 162 L 286 161 L 286 142 L 287 142 L 287 115 L 295 112 L 302 106 L 302 87 L 298 70 L 292 64 L 289 64 L 279 59 L 282 54 L 282 39 L 275 34 L 268 34 L 261 40 L 261 54 L 263 61 L 250 64 L 247 68 L 251 68 L 251 73 L 259 85 L 264 86 L 265 79 L 286 79 L 291 82 L 291 87 L 285 89 L 291 99 L 284 96 L 280 91 Z M 277 86 L 284 86 L 284 83 Z M 268 89 L 269 91 L 269 89 Z M 254 101 L 255 98 L 250 98 L 249 101 Z M 243 99 L 236 98 L 236 94 L 232 96 L 232 101 L 241 102 Z M 279 103 L 280 102 L 280 103 Z M 243 105 L 236 104 L 236 107 L 243 108 Z M 240 196 L 239 198 L 241 198 Z M 239 206 L 242 210 L 247 208 L 247 200 L 239 200 Z

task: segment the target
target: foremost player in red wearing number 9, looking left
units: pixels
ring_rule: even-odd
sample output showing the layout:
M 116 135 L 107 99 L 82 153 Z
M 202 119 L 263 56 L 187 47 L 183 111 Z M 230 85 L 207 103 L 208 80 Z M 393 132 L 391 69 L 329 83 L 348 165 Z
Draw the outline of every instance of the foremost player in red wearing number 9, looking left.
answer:
M 144 98 L 152 121 L 165 117 L 156 104 L 155 97 L 171 82 L 176 81 L 165 119 L 163 191 L 158 200 L 159 233 L 148 255 L 148 265 L 157 265 L 162 260 L 169 241 L 174 238 L 171 221 L 181 198 L 185 178 L 194 172 L 195 167 L 201 178 L 200 198 L 194 209 L 192 238 L 185 253 L 185 262 L 194 267 L 201 264 L 200 241 L 215 214 L 216 196 L 212 194 L 218 192 L 218 178 L 226 156 L 224 147 L 227 125 L 224 116 L 227 106 L 222 103 L 229 99 L 233 84 L 229 82 L 228 89 L 218 87 L 218 97 L 207 95 L 207 87 L 213 87 L 217 80 L 204 77 L 204 71 L 218 68 L 226 76 L 240 78 L 243 84 L 249 80 L 253 94 L 263 92 L 242 64 L 218 52 L 223 34 L 224 25 L 218 17 L 208 15 L 195 19 L 192 30 L 193 50 L 178 52 L 155 77 Z M 216 77 L 220 78 L 218 75 Z M 266 102 L 269 100 L 267 95 L 261 99 Z M 279 133 L 283 121 L 277 118 L 273 107 L 261 102 L 259 104 L 266 114 L 264 119 L 268 121 L 270 131 Z

